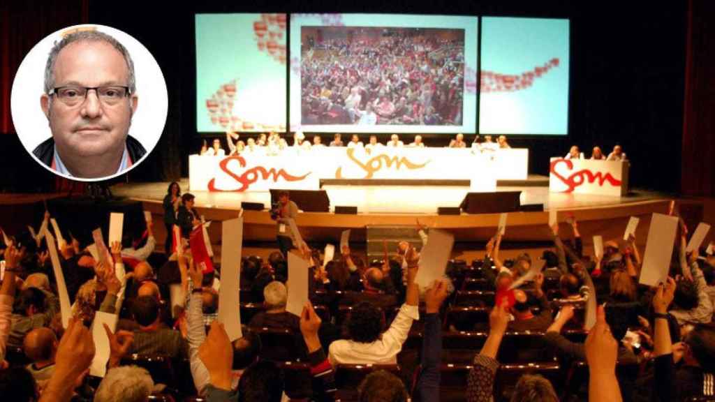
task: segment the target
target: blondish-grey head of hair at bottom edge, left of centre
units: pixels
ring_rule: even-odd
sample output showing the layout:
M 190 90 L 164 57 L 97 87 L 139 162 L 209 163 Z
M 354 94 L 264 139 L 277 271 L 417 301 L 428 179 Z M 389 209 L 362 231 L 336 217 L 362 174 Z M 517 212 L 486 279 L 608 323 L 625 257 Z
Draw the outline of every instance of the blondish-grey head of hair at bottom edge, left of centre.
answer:
M 94 393 L 94 402 L 144 402 L 154 391 L 149 372 L 137 366 L 110 368 Z

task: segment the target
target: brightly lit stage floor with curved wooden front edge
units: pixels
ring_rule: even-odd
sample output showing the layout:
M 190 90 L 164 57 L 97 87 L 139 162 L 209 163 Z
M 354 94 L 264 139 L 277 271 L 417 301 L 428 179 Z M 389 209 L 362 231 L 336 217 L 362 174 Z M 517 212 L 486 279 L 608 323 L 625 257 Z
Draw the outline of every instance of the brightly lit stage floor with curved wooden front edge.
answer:
M 548 210 L 558 211 L 558 220 L 565 222 L 568 215 L 579 221 L 579 229 L 586 245 L 593 234 L 605 238 L 622 236 L 628 217 L 641 217 L 636 236 L 645 244 L 650 215 L 666 213 L 669 195 L 634 189 L 626 197 L 551 193 L 544 177 L 530 176 L 521 186 L 499 186 L 498 192 L 521 191 L 522 205 L 543 204 L 544 211 L 509 212 L 505 242 L 548 242 Z M 546 181 L 548 182 L 548 180 Z M 121 184 L 112 187 L 116 196 L 144 202 L 156 222 L 162 222 L 162 200 L 167 194 L 168 182 Z M 179 182 L 187 188 L 188 180 Z M 468 185 L 322 185 L 330 198 L 331 212 L 305 212 L 296 222 L 303 237 L 309 242 L 327 242 L 340 239 L 340 232 L 352 229 L 351 240 L 365 240 L 369 226 L 415 227 L 417 220 L 429 227 L 450 230 L 458 242 L 484 242 L 493 235 L 499 214 L 438 215 L 438 207 L 458 207 L 469 192 Z M 207 220 L 221 221 L 237 217 L 241 202 L 260 202 L 270 207 L 269 192 L 192 192 L 196 207 Z M 336 205 L 358 207 L 357 215 L 334 214 Z M 267 209 L 246 210 L 244 213 L 244 238 L 247 241 L 275 240 L 275 222 Z M 162 242 L 164 225 L 154 225 L 159 242 Z M 566 230 L 566 225 L 562 225 Z M 212 241 L 220 238 L 220 224 L 209 228 Z M 568 232 L 570 233 L 570 231 Z

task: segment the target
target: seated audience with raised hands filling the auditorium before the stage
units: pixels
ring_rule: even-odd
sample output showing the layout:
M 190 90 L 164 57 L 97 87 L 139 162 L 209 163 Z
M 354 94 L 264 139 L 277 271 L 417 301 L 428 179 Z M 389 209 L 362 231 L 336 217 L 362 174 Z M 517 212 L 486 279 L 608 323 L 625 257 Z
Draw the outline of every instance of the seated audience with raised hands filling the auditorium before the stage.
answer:
M 177 223 L 184 238 L 200 223 L 193 202 L 169 186 L 167 226 Z M 323 260 L 322 244 L 291 251 L 285 219 L 299 212 L 287 192 L 279 207 L 281 251 L 242 258 L 245 328 L 234 342 L 217 320 L 220 267 L 199 268 L 185 240 L 182 253 L 159 253 L 150 222 L 142 235 L 110 245 L 105 262 L 92 257 L 81 233 L 65 233 L 71 240 L 56 251 L 71 303 L 66 328 L 49 242 L 29 231 L 4 233 L 1 399 L 334 401 L 350 400 L 350 391 L 360 401 L 715 398 L 715 255 L 712 244 L 686 252 L 682 221 L 669 278 L 656 288 L 638 285 L 635 237 L 604 242 L 602 256 L 585 255 L 573 218 L 551 227 L 553 246 L 539 258 L 504 260 L 497 230 L 483 258 L 451 260 L 442 279 L 420 287 L 428 227 L 418 222 L 421 244 L 399 242 L 379 260 L 349 244 Z M 48 220 L 46 213 L 42 225 Z M 286 311 L 287 253 L 310 265 L 311 301 L 300 317 Z M 584 330 L 593 298 L 595 325 Z M 93 335 L 87 327 L 97 312 L 117 314 L 117 330 Z M 107 336 L 104 378 L 87 375 L 93 336 Z M 359 387 L 346 385 L 346 371 L 364 377 Z

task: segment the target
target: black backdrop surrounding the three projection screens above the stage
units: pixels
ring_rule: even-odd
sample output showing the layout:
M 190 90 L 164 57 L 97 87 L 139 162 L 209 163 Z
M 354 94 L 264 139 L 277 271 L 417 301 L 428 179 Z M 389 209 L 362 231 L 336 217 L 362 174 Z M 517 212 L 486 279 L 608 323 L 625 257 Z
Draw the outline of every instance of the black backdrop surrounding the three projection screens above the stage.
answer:
M 201 141 L 194 129 L 195 12 L 438 12 L 571 19 L 570 134 L 510 137 L 513 146 L 531 149 L 531 172 L 545 175 L 548 157 L 566 154 L 571 144 L 582 149 L 598 144 L 605 150 L 619 143 L 633 163 L 633 186 L 715 195 L 711 151 L 699 146 L 715 141 L 711 113 L 715 79 L 709 73 L 715 70 L 711 1 L 493 0 L 442 6 L 415 1 L 147 3 L 69 0 L 66 6 L 41 1 L 0 5 L 0 132 L 10 133 L 0 134 L 0 167 L 8 173 L 0 178 L 0 190 L 67 187 L 36 166 L 12 134 L 9 122 L 9 87 L 17 66 L 36 41 L 56 29 L 84 22 L 114 26 L 142 41 L 159 62 L 169 88 L 169 116 L 162 139 L 142 165 L 117 179 L 156 181 L 186 176 L 187 155 Z M 437 146 L 446 144 L 448 138 L 435 136 L 427 141 Z

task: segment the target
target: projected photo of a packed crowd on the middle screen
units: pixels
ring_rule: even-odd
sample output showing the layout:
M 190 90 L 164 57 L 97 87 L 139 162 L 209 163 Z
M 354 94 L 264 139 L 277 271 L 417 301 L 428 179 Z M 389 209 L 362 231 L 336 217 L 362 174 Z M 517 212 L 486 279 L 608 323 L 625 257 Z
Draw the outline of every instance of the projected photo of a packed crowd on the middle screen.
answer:
M 462 125 L 464 30 L 301 29 L 302 124 Z

